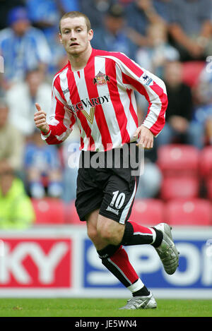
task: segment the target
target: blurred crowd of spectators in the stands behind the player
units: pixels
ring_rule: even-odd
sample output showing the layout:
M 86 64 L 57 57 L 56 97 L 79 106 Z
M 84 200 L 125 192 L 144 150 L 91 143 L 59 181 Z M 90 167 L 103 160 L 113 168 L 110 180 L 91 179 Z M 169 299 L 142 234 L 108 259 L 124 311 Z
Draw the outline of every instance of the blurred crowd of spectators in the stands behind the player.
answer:
M 35 102 L 48 116 L 52 78 L 67 62 L 58 37 L 67 11 L 90 18 L 93 48 L 123 52 L 167 86 L 167 122 L 145 152 L 137 198 L 160 191 L 161 145 L 212 145 L 211 0 L 1 0 L 0 228 L 28 227 L 31 199 L 70 203 L 76 196 L 78 129 L 50 146 L 33 121 Z M 141 123 L 148 103 L 137 93 L 136 99 Z

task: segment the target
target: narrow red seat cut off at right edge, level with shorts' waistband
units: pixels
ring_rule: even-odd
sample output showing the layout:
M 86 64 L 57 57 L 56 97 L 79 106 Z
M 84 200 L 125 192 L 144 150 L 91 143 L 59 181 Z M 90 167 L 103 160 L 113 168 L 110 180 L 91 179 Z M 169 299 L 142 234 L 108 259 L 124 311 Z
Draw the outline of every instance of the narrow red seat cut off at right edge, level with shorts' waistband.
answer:
M 199 157 L 200 174 L 205 179 L 212 177 L 212 146 L 206 146 Z

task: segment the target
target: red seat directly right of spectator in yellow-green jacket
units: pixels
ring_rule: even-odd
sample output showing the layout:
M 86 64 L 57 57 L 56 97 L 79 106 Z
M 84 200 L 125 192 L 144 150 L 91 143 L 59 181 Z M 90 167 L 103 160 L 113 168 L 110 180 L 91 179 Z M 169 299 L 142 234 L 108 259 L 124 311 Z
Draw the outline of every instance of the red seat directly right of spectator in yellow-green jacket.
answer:
M 64 224 L 64 203 L 60 199 L 32 199 L 35 224 Z

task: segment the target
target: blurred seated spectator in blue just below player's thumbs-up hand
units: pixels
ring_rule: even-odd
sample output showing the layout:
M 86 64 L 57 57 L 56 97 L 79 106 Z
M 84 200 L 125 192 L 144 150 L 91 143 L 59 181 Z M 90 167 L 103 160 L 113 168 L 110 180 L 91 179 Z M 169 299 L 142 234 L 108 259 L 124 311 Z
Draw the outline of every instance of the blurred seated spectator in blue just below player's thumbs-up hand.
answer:
M 40 131 L 33 133 L 31 141 L 26 145 L 24 165 L 28 183 L 28 191 L 33 198 L 47 194 L 59 198 L 62 194 L 61 164 L 59 152 L 54 145 L 47 145 L 40 138 Z

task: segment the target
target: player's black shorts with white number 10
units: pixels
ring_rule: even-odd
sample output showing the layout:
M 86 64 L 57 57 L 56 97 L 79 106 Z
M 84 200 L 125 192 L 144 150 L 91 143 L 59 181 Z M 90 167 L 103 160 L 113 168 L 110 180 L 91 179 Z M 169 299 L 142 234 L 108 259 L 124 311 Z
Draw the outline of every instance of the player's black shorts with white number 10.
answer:
M 132 143 L 126 145 L 130 148 Z M 114 156 L 117 150 L 112 150 L 110 156 L 107 152 L 81 152 L 75 203 L 81 221 L 85 221 L 86 215 L 96 209 L 100 209 L 100 215 L 121 224 L 129 219 L 139 184 L 139 148 L 135 144 L 133 147 L 134 152 L 130 152 L 129 156 L 123 154 L 122 148 L 119 149 L 118 167 Z M 87 155 L 87 161 L 84 162 Z M 92 157 L 102 161 L 88 165 Z M 135 162 L 131 162 L 132 158 Z

